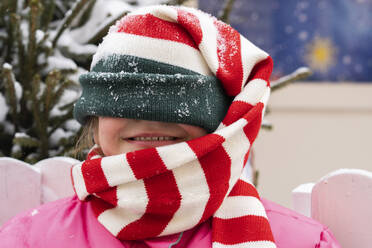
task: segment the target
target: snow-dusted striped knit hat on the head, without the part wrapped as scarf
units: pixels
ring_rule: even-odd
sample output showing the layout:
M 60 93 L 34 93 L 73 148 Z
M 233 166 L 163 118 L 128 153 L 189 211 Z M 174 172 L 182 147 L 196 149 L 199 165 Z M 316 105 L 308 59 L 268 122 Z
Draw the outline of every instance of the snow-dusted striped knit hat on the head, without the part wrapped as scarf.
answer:
M 229 25 L 185 7 L 123 17 L 80 77 L 74 115 L 176 122 L 214 131 L 256 63 L 268 55 Z M 271 70 L 272 64 L 268 64 Z

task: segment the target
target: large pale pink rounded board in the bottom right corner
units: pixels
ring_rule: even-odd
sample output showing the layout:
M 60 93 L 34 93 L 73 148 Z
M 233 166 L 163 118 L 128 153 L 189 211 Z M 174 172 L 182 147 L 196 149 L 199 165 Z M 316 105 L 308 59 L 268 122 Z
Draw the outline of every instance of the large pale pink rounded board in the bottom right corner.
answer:
M 343 248 L 372 247 L 372 173 L 341 169 L 323 177 L 311 193 L 311 217 Z

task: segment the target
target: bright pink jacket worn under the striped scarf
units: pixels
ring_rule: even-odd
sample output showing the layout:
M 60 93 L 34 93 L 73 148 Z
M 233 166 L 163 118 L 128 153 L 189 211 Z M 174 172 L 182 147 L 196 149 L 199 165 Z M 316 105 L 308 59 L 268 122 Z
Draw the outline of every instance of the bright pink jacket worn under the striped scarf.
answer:
M 278 248 L 339 248 L 318 222 L 263 200 Z M 0 247 L 168 248 L 211 247 L 210 222 L 180 234 L 141 241 L 120 241 L 95 218 L 89 202 L 64 198 L 18 215 L 0 228 Z

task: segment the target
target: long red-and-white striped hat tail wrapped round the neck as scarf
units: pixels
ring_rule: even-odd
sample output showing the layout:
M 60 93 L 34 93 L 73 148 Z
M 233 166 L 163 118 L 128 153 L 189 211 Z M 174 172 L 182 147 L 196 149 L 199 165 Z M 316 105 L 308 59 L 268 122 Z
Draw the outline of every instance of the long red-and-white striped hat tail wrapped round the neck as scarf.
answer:
M 270 94 L 271 58 L 200 11 L 155 6 L 132 16 L 149 14 L 190 33 L 234 100 L 217 130 L 197 139 L 107 157 L 95 146 L 72 168 L 77 196 L 121 240 L 179 233 L 211 218 L 213 248 L 276 247 L 255 187 L 241 178 Z

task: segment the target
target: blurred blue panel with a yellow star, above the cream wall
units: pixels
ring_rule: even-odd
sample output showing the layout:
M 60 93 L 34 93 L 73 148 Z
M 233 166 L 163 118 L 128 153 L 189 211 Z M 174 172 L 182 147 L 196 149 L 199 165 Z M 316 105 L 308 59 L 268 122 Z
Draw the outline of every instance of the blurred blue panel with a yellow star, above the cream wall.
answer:
M 199 0 L 217 15 L 224 0 Z M 236 0 L 230 23 L 274 59 L 274 77 L 300 66 L 311 80 L 372 82 L 372 0 Z

